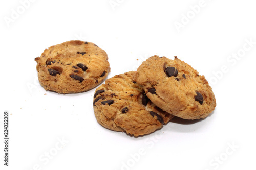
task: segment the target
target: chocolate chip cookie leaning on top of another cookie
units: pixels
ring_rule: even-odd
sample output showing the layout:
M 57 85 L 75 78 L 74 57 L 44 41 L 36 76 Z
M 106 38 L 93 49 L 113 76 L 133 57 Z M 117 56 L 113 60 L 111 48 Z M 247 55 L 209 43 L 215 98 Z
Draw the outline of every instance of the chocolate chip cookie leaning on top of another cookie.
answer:
M 177 57 L 148 58 L 133 80 L 143 86 L 156 106 L 184 119 L 205 118 L 216 107 L 215 95 L 205 77 Z

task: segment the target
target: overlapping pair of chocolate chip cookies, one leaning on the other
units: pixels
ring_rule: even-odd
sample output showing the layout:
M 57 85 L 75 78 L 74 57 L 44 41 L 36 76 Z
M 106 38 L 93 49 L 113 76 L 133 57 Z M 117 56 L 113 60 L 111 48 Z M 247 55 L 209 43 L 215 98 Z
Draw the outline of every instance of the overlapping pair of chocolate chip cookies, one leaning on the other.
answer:
M 107 79 L 96 89 L 93 107 L 103 127 L 139 136 L 174 116 L 205 118 L 216 100 L 205 77 L 190 65 L 177 57 L 152 56 L 137 71 Z

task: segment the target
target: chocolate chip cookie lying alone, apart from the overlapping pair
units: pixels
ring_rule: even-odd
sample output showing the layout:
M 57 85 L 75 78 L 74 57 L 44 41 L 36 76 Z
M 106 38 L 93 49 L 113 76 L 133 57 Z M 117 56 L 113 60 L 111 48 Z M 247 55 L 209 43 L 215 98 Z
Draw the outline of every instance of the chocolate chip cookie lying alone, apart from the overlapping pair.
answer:
M 51 46 L 35 61 L 41 86 L 58 93 L 92 89 L 110 72 L 106 52 L 94 43 L 79 40 Z

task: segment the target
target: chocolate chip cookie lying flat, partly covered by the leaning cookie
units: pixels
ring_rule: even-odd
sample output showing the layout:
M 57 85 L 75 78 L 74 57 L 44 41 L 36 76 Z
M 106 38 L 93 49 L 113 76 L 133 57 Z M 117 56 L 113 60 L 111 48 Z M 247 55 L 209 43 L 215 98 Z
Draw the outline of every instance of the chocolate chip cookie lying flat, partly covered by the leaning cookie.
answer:
M 94 94 L 95 117 L 105 128 L 139 136 L 161 128 L 174 116 L 156 107 L 132 80 L 135 71 L 116 75 Z

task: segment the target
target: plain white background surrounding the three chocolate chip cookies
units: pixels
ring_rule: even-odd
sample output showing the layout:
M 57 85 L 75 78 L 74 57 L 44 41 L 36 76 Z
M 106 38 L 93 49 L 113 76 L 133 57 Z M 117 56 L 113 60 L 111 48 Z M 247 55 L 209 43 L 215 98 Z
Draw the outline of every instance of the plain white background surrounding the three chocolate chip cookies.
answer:
M 0 169 L 256 168 L 254 1 L 28 2 L 0 3 L 2 139 L 10 114 L 9 166 L 1 139 Z M 93 112 L 95 88 L 63 95 L 38 84 L 34 58 L 75 39 L 108 53 L 108 78 L 153 55 L 178 56 L 210 82 L 217 107 L 143 137 L 105 129 Z

